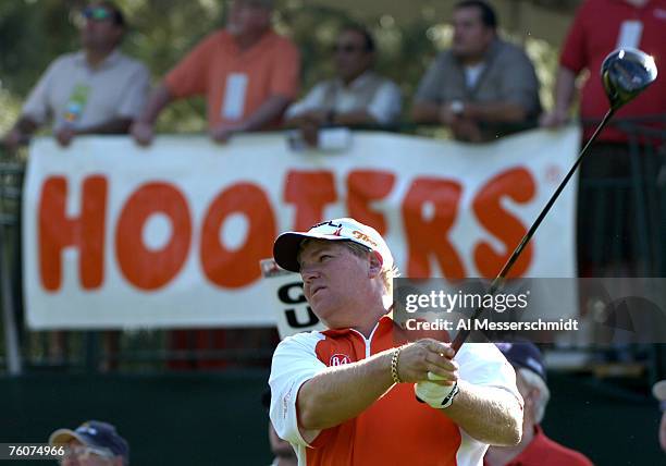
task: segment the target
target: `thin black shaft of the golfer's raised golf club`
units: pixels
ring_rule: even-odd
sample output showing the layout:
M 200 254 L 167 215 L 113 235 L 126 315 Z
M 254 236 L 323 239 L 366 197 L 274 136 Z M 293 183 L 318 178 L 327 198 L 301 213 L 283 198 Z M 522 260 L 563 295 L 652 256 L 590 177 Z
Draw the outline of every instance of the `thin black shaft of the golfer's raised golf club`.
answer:
M 565 186 L 567 185 L 571 176 L 574 176 L 576 169 L 578 168 L 578 165 L 580 165 L 580 162 L 582 161 L 583 157 L 585 157 L 585 155 L 588 154 L 590 146 L 592 145 L 592 143 L 594 143 L 594 140 L 596 139 L 599 134 L 602 132 L 604 126 L 606 126 L 606 123 L 608 123 L 608 120 L 610 120 L 610 116 L 613 116 L 616 110 L 617 110 L 616 108 L 608 109 L 608 111 L 604 115 L 604 119 L 601 121 L 599 126 L 596 126 L 594 134 L 592 135 L 590 140 L 588 140 L 588 143 L 582 148 L 582 150 L 580 151 L 580 155 L 578 156 L 578 159 L 576 159 L 574 167 L 571 167 L 571 169 L 569 170 L 567 175 L 564 177 L 562 183 L 559 183 L 559 186 L 557 186 L 557 189 L 555 189 L 555 193 L 553 193 L 553 195 L 546 203 L 545 207 L 541 210 L 541 213 L 539 213 L 539 217 L 536 217 L 536 220 L 534 220 L 534 223 L 532 223 L 532 226 L 530 226 L 530 229 L 525 234 L 525 236 L 522 236 L 522 240 L 520 240 L 520 243 L 518 243 L 518 246 L 516 247 L 514 253 L 510 255 L 510 257 L 508 258 L 508 260 L 506 261 L 506 263 L 504 265 L 504 267 L 502 268 L 497 277 L 495 277 L 495 279 L 492 281 L 490 289 L 488 290 L 489 294 L 494 295 L 497 292 L 497 290 L 502 286 L 502 284 L 504 283 L 504 280 L 506 279 L 506 275 L 511 270 L 511 267 L 514 267 L 514 263 L 516 263 L 516 261 L 518 260 L 518 257 L 520 257 L 520 254 L 522 253 L 525 247 L 528 245 L 528 243 L 534 235 L 534 232 L 536 231 L 536 229 L 539 228 L 539 225 L 541 224 L 545 216 L 551 210 L 551 207 L 553 207 L 553 204 L 555 204 L 555 200 L 557 200 L 557 198 L 559 197 L 559 194 L 564 191 Z M 479 316 L 481 315 L 481 312 L 483 311 L 483 309 L 484 309 L 483 307 L 477 308 L 477 310 L 474 310 L 474 314 L 471 317 L 471 320 L 472 321 L 477 320 Z M 458 352 L 458 350 L 460 350 L 460 346 L 462 346 L 462 343 L 465 343 L 465 341 L 467 340 L 470 333 L 471 333 L 471 330 L 460 330 L 456 334 L 456 338 L 454 339 L 454 342 L 452 344 L 456 353 Z

